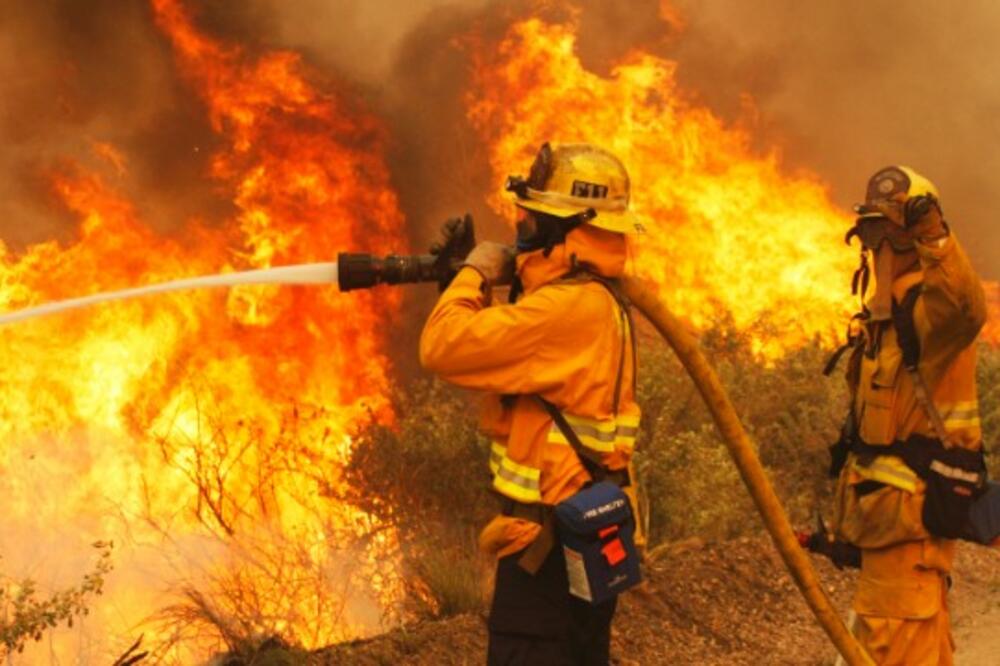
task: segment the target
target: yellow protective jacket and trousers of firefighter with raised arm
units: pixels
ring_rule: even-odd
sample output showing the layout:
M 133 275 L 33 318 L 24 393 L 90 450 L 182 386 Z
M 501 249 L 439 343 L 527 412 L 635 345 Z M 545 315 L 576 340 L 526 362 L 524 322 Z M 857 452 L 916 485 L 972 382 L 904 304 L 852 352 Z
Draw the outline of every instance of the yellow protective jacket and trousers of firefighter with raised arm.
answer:
M 985 294 L 953 235 L 917 244 L 921 271 L 898 278 L 901 302 L 914 285 L 920 340 L 920 373 L 931 389 L 949 439 L 971 450 L 982 446 L 976 392 L 975 340 L 986 320 Z M 847 371 L 857 432 L 870 445 L 936 437 L 902 363 L 891 322 L 868 322 Z M 854 486 L 884 486 L 857 493 Z M 951 567 L 953 543 L 931 537 L 921 520 L 924 482 L 897 456 L 862 460 L 851 454 L 837 487 L 834 528 L 863 550 L 855 610 L 866 616 L 920 619 L 942 607 L 942 575 Z

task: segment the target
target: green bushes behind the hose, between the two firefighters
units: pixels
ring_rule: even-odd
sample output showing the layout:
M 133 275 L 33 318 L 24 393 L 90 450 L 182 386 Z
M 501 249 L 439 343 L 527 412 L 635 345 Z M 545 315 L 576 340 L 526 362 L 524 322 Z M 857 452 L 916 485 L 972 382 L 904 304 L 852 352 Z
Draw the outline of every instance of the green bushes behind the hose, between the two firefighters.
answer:
M 768 365 L 753 353 L 752 332 L 733 330 L 710 331 L 702 346 L 793 522 L 808 521 L 829 497 L 827 446 L 845 412 L 844 383 L 822 375 L 827 352 L 818 343 Z M 641 366 L 636 466 L 650 507 L 650 543 L 757 532 L 736 468 L 673 352 L 650 339 Z

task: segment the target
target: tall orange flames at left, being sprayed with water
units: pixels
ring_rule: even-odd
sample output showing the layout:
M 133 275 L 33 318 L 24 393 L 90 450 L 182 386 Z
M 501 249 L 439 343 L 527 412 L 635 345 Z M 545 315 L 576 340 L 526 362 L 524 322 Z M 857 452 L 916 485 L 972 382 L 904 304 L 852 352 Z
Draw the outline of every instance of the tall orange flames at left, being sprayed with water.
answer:
M 0 246 L 0 307 L 329 261 L 345 248 L 405 249 L 375 119 L 296 55 L 252 59 L 199 33 L 177 0 L 153 8 L 228 144 L 210 172 L 232 192 L 235 219 L 158 236 L 99 175 L 62 169 L 54 189 L 80 220 L 78 238 L 19 255 Z M 127 173 L 114 147 L 94 149 Z M 180 585 L 214 590 L 219 617 L 264 618 L 245 631 L 306 646 L 375 624 L 396 598 L 384 557 L 392 536 L 379 532 L 359 553 L 344 545 L 372 520 L 337 500 L 338 470 L 358 418 L 388 410 L 381 332 L 398 305 L 398 293 L 245 288 L 0 332 L 2 530 L 38 544 L 5 549 L 6 568 L 38 575 L 34 563 L 46 579 L 59 569 L 71 580 L 85 544 L 119 544 L 105 597 L 82 633 L 57 641 L 60 659 L 79 658 L 86 643 L 95 663 L 110 662 L 140 631 L 149 642 L 136 626 L 165 603 L 159 590 Z M 345 596 L 361 574 L 360 592 Z M 218 632 L 192 631 L 166 626 L 160 639 L 191 640 L 161 656 L 193 663 L 219 647 Z

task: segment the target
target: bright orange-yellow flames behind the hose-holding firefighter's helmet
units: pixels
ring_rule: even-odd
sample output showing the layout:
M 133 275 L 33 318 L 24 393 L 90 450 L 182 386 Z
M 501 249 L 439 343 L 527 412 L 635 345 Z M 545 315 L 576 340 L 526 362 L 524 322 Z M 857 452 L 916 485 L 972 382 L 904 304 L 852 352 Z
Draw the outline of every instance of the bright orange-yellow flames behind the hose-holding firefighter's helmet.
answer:
M 760 329 L 754 345 L 767 357 L 833 339 L 855 307 L 845 283 L 856 251 L 843 243 L 848 216 L 819 179 L 755 154 L 746 128 L 678 88 L 676 63 L 635 52 L 602 77 L 575 48 L 574 26 L 538 19 L 516 23 L 499 45 L 474 46 L 468 116 L 498 182 L 543 141 L 604 146 L 640 184 L 632 205 L 648 232 L 635 269 L 673 308 L 698 327 L 727 313 Z M 493 204 L 506 205 L 499 195 Z

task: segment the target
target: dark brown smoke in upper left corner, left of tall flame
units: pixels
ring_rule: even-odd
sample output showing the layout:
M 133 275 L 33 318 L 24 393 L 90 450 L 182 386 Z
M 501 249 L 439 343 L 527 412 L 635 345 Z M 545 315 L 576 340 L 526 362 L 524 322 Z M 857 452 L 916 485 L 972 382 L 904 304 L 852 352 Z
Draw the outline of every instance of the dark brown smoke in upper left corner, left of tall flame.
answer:
M 67 239 L 47 185 L 67 161 L 100 168 L 159 230 L 228 210 L 204 184 L 215 137 L 143 3 L 5 3 L 0 97 L 0 237 L 15 248 Z

